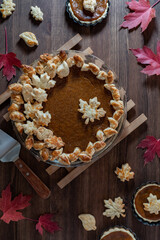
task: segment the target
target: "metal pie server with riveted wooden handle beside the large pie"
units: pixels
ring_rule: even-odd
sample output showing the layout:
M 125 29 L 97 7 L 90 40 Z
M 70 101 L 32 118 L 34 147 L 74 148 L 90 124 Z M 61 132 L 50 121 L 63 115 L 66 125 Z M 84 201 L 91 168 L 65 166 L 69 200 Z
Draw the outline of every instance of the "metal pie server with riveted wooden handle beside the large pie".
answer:
M 35 175 L 35 173 L 19 158 L 21 145 L 14 138 L 0 129 L 0 161 L 14 162 L 16 167 L 34 188 L 37 194 L 46 199 L 50 196 L 50 190 Z

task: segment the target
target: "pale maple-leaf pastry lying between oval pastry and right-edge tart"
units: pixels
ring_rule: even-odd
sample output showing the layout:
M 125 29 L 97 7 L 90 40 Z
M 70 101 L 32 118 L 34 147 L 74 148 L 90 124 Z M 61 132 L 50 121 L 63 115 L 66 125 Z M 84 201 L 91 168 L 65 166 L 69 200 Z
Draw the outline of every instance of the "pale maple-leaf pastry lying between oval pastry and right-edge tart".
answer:
M 104 200 L 104 206 L 108 209 L 103 212 L 103 215 L 114 219 L 115 217 L 120 218 L 120 216 L 125 217 L 125 209 L 123 204 L 123 199 L 118 197 L 114 201 L 112 199 Z

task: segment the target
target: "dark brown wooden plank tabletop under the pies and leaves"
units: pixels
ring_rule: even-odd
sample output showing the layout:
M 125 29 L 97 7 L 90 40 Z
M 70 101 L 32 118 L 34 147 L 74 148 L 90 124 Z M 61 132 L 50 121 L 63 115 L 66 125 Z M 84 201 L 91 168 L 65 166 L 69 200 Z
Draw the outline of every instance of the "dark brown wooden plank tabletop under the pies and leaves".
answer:
M 48 1 L 14 1 L 16 10 L 12 16 L 3 20 L 0 18 L 0 53 L 4 53 L 4 27 L 7 27 L 9 51 L 14 51 L 17 57 L 25 64 L 31 63 L 43 52 L 58 49 L 63 43 L 80 33 L 83 40 L 76 49 L 83 50 L 90 46 L 94 54 L 110 65 L 119 76 L 120 85 L 126 91 L 128 98 L 136 103 L 134 110 L 129 114 L 134 119 L 142 112 L 148 117 L 147 124 L 143 124 L 130 136 L 117 145 L 102 159 L 94 163 L 83 174 L 76 178 L 63 190 L 56 182 L 64 176 L 66 170 L 60 169 L 52 176 L 44 171 L 47 167 L 42 162 L 37 162 L 28 151 L 22 148 L 21 157 L 34 170 L 34 172 L 52 190 L 49 199 L 40 199 L 20 172 L 12 163 L 0 163 L 0 192 L 11 182 L 13 196 L 20 192 L 31 194 L 31 206 L 23 213 L 29 218 L 38 219 L 41 214 L 54 213 L 54 219 L 59 223 L 62 231 L 55 235 L 44 233 L 41 238 L 35 230 L 35 224 L 22 220 L 9 225 L 0 221 L 1 240 L 28 240 L 28 239 L 57 239 L 57 240 L 93 240 L 99 239 L 101 232 L 108 227 L 124 225 L 131 228 L 141 240 L 159 240 L 160 228 L 149 227 L 140 223 L 131 210 L 132 195 L 139 185 L 147 181 L 160 182 L 159 159 L 144 167 L 143 152 L 136 150 L 137 144 L 146 135 L 159 137 L 160 130 L 160 77 L 147 77 L 140 73 L 142 66 L 137 64 L 136 58 L 130 48 L 139 48 L 147 45 L 156 52 L 157 40 L 160 38 L 160 4 L 156 6 L 157 17 L 148 29 L 141 34 L 141 29 L 134 31 L 120 29 L 124 15 L 128 12 L 125 0 L 112 1 L 109 15 L 106 20 L 95 27 L 80 27 L 69 19 L 65 13 L 65 0 Z M 151 3 L 155 1 L 151 0 Z M 44 21 L 37 24 L 29 15 L 31 5 L 38 5 L 44 12 Z M 19 39 L 19 34 L 24 31 L 34 32 L 39 40 L 37 48 L 29 48 Z M 12 82 L 18 79 L 20 72 Z M 0 93 L 8 85 L 0 72 Z M 0 128 L 16 137 L 10 122 L 2 118 L 9 106 L 9 100 L 0 106 Z M 114 174 L 117 166 L 128 162 L 135 172 L 135 179 L 122 183 Z M 110 220 L 102 215 L 104 199 L 121 196 L 126 203 L 126 218 Z M 78 215 L 91 213 L 96 217 L 97 230 L 86 232 Z

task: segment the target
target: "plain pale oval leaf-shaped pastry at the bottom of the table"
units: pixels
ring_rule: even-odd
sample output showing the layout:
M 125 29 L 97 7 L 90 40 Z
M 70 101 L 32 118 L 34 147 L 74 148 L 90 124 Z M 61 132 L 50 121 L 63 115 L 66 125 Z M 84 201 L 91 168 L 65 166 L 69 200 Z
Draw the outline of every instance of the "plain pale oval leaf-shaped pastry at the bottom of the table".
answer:
M 96 230 L 96 220 L 91 214 L 80 214 L 78 218 L 82 221 L 82 225 L 86 231 Z

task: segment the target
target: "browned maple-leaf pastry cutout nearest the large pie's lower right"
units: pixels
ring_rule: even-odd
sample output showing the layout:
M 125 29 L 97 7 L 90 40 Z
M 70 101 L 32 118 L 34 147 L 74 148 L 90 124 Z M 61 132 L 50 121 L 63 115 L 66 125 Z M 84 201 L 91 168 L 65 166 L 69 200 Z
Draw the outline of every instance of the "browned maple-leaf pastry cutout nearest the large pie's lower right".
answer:
M 123 164 L 122 168 L 116 168 L 115 174 L 117 174 L 117 177 L 122 181 L 129 181 L 130 179 L 134 178 L 134 172 L 131 172 L 131 167 L 128 163 Z

